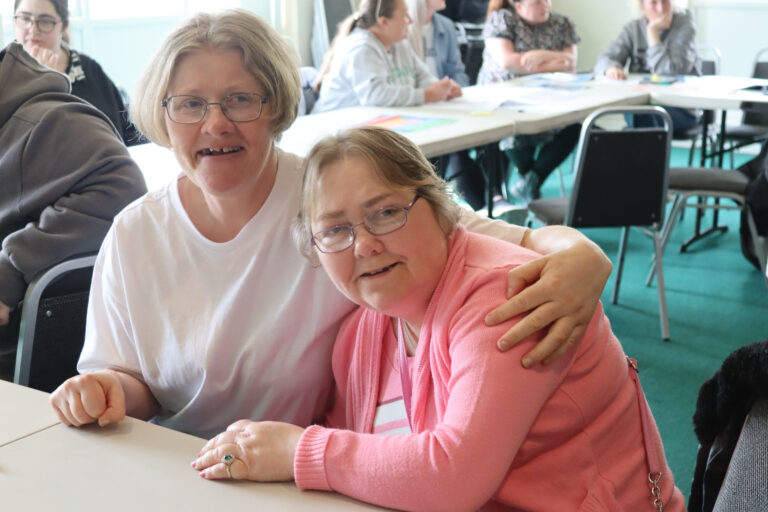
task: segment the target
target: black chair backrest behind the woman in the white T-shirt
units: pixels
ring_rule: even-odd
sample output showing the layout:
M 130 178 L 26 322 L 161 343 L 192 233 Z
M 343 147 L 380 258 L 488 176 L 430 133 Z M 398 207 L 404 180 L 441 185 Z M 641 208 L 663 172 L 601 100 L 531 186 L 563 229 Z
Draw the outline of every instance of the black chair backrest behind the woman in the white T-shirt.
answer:
M 59 263 L 24 296 L 14 382 L 51 392 L 77 375 L 95 255 Z

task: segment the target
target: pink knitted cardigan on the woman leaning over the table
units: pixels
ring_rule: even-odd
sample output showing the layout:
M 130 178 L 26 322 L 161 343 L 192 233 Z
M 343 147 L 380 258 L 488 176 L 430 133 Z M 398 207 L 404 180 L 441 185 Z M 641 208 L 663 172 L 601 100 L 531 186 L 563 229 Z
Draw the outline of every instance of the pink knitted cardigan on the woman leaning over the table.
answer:
M 296 484 L 407 510 L 653 510 L 637 395 L 602 308 L 575 350 L 533 370 L 520 359 L 535 340 L 501 353 L 509 324 L 483 323 L 509 268 L 535 257 L 455 233 L 415 354 L 414 434 L 370 434 L 390 319 L 353 312 L 333 351 L 336 428 L 302 435 Z M 682 511 L 666 462 L 661 489 L 665 510 Z

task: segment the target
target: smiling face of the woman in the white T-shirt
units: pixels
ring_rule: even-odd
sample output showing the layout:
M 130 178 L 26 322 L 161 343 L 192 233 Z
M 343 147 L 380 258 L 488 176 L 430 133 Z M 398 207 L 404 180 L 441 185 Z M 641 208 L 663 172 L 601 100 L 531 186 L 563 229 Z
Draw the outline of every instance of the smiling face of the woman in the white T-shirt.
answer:
M 199 96 L 219 102 L 233 93 L 264 94 L 235 50 L 198 50 L 183 56 L 172 73 L 166 97 Z M 274 159 L 271 108 L 263 105 L 255 121 L 233 123 L 219 105 L 208 107 L 202 121 L 179 124 L 165 117 L 176 159 L 204 194 L 250 194 L 264 183 Z

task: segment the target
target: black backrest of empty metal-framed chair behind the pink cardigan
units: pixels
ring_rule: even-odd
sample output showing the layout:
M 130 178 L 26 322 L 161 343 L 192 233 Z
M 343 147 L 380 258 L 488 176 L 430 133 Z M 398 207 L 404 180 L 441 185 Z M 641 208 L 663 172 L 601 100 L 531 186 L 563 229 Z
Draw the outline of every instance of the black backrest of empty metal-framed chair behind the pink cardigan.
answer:
M 653 116 L 659 127 L 603 129 L 605 116 Z M 672 120 L 660 107 L 610 107 L 585 121 L 565 223 L 573 227 L 656 226 L 664 222 Z

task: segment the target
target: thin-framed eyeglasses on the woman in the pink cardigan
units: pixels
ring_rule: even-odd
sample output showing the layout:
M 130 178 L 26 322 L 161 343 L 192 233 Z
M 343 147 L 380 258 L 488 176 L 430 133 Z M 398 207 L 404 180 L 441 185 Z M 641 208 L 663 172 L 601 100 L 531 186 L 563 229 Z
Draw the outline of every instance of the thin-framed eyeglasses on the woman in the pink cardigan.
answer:
M 311 243 L 320 252 L 341 252 L 355 243 L 355 230 L 363 226 L 372 235 L 387 235 L 405 226 L 408 212 L 419 199 L 418 194 L 408 206 L 385 206 L 369 213 L 357 224 L 340 224 L 312 235 Z

